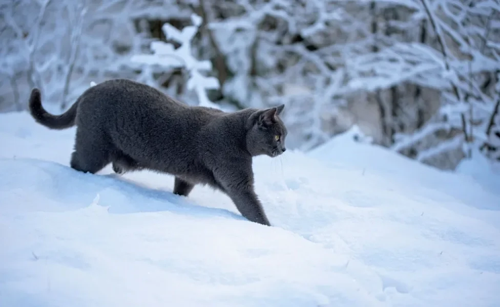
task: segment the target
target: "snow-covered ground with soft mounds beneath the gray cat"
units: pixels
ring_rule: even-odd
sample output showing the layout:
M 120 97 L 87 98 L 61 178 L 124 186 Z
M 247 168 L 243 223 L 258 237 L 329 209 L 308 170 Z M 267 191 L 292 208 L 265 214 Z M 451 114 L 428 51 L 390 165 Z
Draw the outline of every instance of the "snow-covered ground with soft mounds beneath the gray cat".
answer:
M 68 166 L 0 115 L 0 306 L 500 306 L 500 182 L 339 137 L 254 162 L 274 227 L 173 178 Z M 290 150 L 291 151 L 291 150 Z

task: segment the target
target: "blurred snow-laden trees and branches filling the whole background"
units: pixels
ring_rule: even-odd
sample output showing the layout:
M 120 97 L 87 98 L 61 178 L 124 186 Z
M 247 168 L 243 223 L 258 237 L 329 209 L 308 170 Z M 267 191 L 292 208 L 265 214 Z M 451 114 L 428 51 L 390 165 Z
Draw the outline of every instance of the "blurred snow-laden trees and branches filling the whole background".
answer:
M 34 85 L 64 108 L 90 81 L 126 77 L 190 104 L 285 103 L 289 147 L 314 148 L 356 124 L 374 143 L 441 168 L 498 159 L 498 0 L 0 7 L 4 111 L 25 108 Z

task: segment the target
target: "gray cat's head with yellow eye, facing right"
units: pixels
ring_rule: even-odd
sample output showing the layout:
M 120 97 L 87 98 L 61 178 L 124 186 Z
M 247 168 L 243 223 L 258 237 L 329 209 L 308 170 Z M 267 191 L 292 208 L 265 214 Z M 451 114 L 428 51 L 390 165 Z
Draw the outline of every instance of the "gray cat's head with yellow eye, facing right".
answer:
M 276 157 L 285 150 L 287 130 L 280 119 L 284 104 L 256 111 L 246 121 L 246 146 L 252 156 Z

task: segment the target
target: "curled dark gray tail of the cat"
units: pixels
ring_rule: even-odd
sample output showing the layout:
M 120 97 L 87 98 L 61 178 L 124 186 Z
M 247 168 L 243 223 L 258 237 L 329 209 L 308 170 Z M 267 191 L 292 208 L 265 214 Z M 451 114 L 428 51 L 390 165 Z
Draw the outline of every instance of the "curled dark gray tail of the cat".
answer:
M 31 91 L 30 113 L 35 121 L 50 129 L 66 129 L 75 125 L 76 107 L 78 100 L 61 115 L 52 115 L 41 105 L 40 90 L 36 87 Z

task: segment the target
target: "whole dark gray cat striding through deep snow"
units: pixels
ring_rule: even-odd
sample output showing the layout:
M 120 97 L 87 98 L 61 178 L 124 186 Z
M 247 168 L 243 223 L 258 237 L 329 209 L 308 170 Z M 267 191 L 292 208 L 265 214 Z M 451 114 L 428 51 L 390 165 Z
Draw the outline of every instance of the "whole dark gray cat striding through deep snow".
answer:
M 284 105 L 226 113 L 188 106 L 154 87 L 128 79 L 90 87 L 61 115 L 31 92 L 31 116 L 51 129 L 76 124 L 72 168 L 96 173 L 150 169 L 175 176 L 173 192 L 188 196 L 196 184 L 226 193 L 249 221 L 270 226 L 254 190 L 252 157 L 285 149 Z

